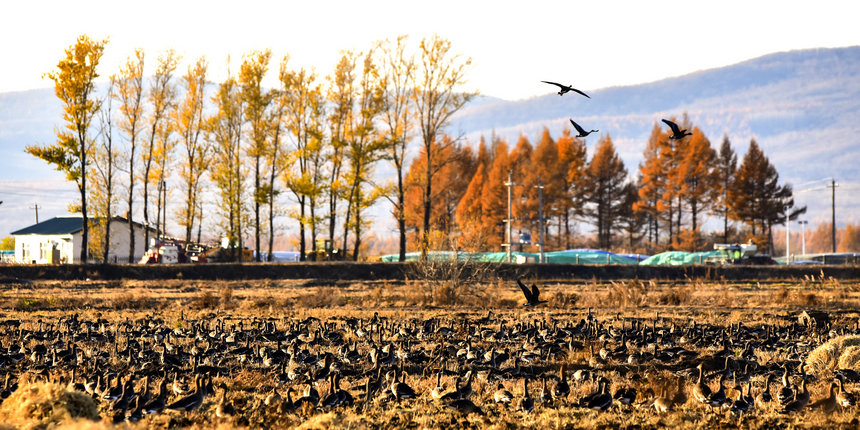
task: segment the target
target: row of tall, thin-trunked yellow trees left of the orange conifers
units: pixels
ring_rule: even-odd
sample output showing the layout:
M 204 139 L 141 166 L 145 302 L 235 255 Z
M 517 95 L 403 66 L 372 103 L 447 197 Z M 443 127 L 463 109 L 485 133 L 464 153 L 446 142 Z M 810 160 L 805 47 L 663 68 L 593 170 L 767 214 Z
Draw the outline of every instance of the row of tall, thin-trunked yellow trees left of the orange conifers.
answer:
M 298 223 L 302 256 L 307 248 L 315 250 L 322 236 L 339 243 L 344 254 L 352 245 L 358 258 L 366 210 L 385 197 L 398 220 L 405 256 L 408 144 L 418 136 L 428 154 L 431 146 L 445 146 L 437 140 L 444 140 L 451 116 L 474 96 L 459 90 L 470 60 L 438 36 L 421 40 L 417 49 L 402 36 L 366 52 L 345 52 L 324 79 L 314 70 L 290 67 L 284 57 L 275 88 L 263 86 L 273 67 L 269 50 L 246 54 L 238 75 L 228 74 L 212 89 L 207 88 L 205 58 L 177 77 L 180 57 L 172 50 L 158 57 L 146 82 L 146 55 L 138 49 L 99 96 L 96 71 L 106 43 L 84 35 L 66 50 L 58 71 L 48 77 L 63 102 L 67 126 L 57 132 L 56 143 L 27 148 L 78 186 L 81 197 L 73 210 L 84 216 L 83 241 L 90 245 L 83 247 L 82 259 L 88 248 L 107 259 L 109 223 L 123 209 L 133 258 L 132 218 L 139 194 L 144 224 L 155 225 L 160 234 L 171 174 L 181 188 L 175 215 L 186 241 L 192 240 L 195 226 L 201 238 L 202 190 L 211 183 L 215 222 L 234 248 L 243 248 L 250 233 L 254 249 L 262 250 L 265 236 L 271 256 L 275 218 L 286 214 Z M 95 118 L 98 127 L 91 130 Z M 375 183 L 374 169 L 383 161 L 394 167 L 396 179 Z M 425 166 L 423 207 L 429 210 L 440 167 L 429 156 Z M 295 204 L 279 207 L 281 194 L 289 194 Z M 88 196 L 94 210 L 88 208 Z M 99 240 L 92 242 L 90 212 L 106 223 L 96 226 Z M 426 250 L 429 214 L 420 228 Z M 146 229 L 147 243 L 149 234 Z

